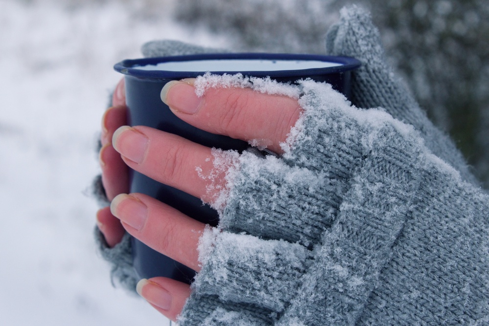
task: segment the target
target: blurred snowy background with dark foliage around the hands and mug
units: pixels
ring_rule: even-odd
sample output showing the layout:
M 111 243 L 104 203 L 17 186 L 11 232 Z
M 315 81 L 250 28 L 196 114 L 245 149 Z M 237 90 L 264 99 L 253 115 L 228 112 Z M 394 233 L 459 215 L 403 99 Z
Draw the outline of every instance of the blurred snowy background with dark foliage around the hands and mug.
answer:
M 155 39 L 324 53 L 352 2 L 372 11 L 391 64 L 487 188 L 487 0 L 0 0 L 0 325 L 168 323 L 112 287 L 93 243 L 114 63 Z

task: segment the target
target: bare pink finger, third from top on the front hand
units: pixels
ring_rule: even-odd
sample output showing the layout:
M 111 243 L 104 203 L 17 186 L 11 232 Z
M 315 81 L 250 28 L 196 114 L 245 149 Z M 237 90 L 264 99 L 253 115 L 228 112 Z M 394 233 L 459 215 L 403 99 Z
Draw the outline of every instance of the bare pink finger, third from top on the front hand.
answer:
M 200 270 L 197 246 L 205 224 L 143 194 L 121 194 L 111 212 L 133 237 L 195 271 Z

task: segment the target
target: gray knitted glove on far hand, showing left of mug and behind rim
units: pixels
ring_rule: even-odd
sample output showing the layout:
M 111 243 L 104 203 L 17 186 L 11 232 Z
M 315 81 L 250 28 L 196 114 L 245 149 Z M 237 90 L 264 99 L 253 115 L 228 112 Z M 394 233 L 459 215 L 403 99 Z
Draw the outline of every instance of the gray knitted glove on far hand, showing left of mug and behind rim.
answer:
M 144 57 L 163 57 L 163 56 L 176 56 L 187 54 L 199 54 L 207 52 L 225 52 L 222 49 L 206 48 L 198 45 L 192 45 L 182 43 L 178 41 L 153 41 L 145 43 L 141 47 L 141 52 Z M 112 103 L 109 103 L 109 107 Z M 104 207 L 110 204 L 106 197 L 105 190 L 102 185 L 101 177 L 95 178 L 92 185 L 92 192 L 99 201 L 99 204 Z M 135 293 L 136 284 L 139 281 L 133 268 L 133 257 L 131 249 L 131 237 L 129 234 L 123 237 L 121 242 L 115 245 L 113 248 L 109 248 L 105 241 L 104 235 L 100 232 L 98 227 L 95 227 L 95 241 L 100 250 L 102 258 L 109 261 L 111 264 L 111 279 L 112 282 L 119 283 L 122 287 Z

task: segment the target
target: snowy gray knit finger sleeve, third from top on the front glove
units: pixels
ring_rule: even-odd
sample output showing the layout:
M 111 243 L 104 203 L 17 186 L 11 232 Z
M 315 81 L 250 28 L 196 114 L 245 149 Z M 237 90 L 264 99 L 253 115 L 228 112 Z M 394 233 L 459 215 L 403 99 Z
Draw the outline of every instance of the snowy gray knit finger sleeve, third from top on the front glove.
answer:
M 201 241 L 194 290 L 224 302 L 282 311 L 310 264 L 309 250 L 284 240 L 207 230 Z

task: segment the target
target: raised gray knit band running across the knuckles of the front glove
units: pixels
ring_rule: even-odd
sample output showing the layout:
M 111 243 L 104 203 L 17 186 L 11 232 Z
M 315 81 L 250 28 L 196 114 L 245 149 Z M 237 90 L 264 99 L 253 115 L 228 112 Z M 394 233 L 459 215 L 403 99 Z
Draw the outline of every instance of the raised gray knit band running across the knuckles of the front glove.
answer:
M 370 150 L 280 325 L 290 325 L 297 316 L 304 325 L 355 325 L 379 286 L 379 274 L 409 216 L 423 160 L 412 128 L 386 115 L 378 118 L 378 123 L 372 116 L 365 120 L 371 128 L 358 141 Z

